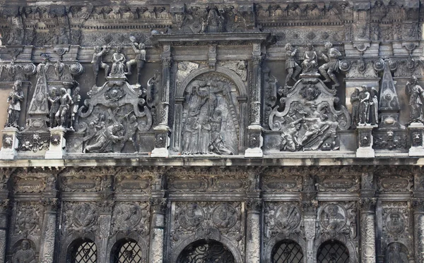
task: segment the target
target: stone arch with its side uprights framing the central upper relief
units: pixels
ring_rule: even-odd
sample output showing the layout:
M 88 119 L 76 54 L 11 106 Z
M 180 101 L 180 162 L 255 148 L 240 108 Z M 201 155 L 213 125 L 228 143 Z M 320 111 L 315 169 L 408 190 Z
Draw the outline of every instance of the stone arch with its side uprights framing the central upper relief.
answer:
M 227 96 L 229 96 L 234 102 L 237 101 L 237 105 L 231 105 L 228 111 L 231 111 L 230 120 L 235 123 L 235 134 L 237 135 L 237 145 L 233 145 L 236 147 L 236 152 L 241 152 L 245 145 L 245 127 L 247 124 L 245 123 L 244 118 L 241 116 L 247 115 L 247 95 L 248 90 L 245 85 L 245 82 L 237 75 L 234 71 L 231 71 L 228 68 L 224 68 L 221 66 L 217 66 L 215 69 L 211 68 L 199 68 L 192 73 L 190 73 L 177 87 L 175 92 L 175 116 L 174 116 L 174 130 L 172 133 L 172 147 L 175 149 L 175 152 L 182 152 L 182 130 L 184 128 L 184 92 L 186 92 L 187 87 L 195 81 L 196 78 L 201 78 L 202 75 L 205 74 L 219 74 L 223 75 L 224 78 L 230 80 L 232 84 L 235 86 L 235 90 L 237 91 L 237 95 L 232 97 L 230 95 L 231 92 L 228 92 Z

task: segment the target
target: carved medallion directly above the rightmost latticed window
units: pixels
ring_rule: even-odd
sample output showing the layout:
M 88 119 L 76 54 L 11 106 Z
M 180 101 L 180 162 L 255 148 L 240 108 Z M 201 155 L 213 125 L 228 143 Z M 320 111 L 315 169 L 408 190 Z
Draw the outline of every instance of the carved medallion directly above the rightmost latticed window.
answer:
M 320 215 L 321 226 L 331 236 L 335 236 L 338 231 L 346 225 L 346 211 L 338 204 L 328 204 L 322 209 Z

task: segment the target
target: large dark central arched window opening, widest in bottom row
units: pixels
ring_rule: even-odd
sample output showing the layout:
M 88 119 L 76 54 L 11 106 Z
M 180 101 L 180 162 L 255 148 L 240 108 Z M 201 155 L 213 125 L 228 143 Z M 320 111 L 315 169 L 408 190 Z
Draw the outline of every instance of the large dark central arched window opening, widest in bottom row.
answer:
M 235 258 L 225 245 L 213 240 L 199 240 L 182 250 L 177 263 L 235 263 Z

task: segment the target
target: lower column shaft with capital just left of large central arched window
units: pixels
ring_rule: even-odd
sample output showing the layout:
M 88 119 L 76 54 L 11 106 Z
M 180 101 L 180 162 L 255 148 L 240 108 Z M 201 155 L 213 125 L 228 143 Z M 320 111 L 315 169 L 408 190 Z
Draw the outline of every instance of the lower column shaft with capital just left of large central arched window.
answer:
M 149 248 L 149 262 L 163 262 L 163 246 L 165 237 L 165 207 L 166 199 L 154 199 L 152 204 L 152 221 L 151 221 L 151 245 Z

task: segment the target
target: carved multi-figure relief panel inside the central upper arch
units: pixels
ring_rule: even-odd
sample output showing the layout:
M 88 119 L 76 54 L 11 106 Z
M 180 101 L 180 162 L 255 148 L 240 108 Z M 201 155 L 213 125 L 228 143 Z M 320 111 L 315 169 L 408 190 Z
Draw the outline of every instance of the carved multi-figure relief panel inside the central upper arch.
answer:
M 211 74 L 211 78 L 199 78 L 187 87 L 183 154 L 234 154 L 238 122 L 230 85 L 225 78 Z

